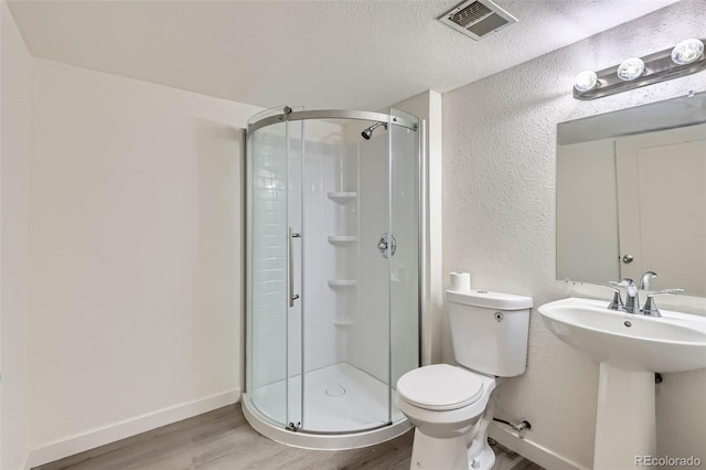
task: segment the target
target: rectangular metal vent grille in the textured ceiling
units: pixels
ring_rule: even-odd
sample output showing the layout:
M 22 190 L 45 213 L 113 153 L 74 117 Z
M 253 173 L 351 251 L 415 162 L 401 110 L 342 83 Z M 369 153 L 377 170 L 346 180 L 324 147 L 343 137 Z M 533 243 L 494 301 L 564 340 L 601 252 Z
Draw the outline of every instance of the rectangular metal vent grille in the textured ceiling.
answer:
M 468 0 L 449 11 L 439 21 L 478 41 L 517 19 L 491 0 Z

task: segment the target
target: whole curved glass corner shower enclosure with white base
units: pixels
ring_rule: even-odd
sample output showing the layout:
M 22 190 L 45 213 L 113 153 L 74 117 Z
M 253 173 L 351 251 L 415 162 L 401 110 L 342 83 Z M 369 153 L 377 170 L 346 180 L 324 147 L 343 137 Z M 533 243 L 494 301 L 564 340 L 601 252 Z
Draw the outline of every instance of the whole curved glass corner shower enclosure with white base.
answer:
M 295 446 L 409 428 L 419 366 L 421 137 L 415 116 L 289 107 L 248 122 L 243 409 Z

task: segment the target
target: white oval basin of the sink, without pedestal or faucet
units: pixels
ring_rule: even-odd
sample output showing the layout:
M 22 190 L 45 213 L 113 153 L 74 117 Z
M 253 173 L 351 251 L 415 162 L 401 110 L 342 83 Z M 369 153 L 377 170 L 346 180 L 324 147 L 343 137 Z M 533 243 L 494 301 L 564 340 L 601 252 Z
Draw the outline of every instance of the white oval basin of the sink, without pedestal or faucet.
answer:
M 568 298 L 539 307 L 559 340 L 597 362 L 628 371 L 706 367 L 706 317 L 661 310 L 662 318 L 608 310 L 608 301 Z

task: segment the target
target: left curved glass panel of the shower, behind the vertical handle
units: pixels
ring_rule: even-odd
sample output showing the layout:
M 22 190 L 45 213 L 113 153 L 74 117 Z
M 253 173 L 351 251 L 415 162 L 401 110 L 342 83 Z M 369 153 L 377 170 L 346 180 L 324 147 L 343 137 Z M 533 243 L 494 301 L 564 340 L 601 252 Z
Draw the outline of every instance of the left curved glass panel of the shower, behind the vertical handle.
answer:
M 255 116 L 256 121 L 281 108 Z M 295 124 L 298 126 L 299 124 Z M 246 384 L 257 409 L 282 427 L 300 421 L 300 374 L 291 351 L 297 349 L 292 310 L 297 311 L 296 235 L 300 227 L 297 194 L 292 202 L 291 124 L 277 122 L 249 136 L 247 174 L 247 361 Z M 296 130 L 295 130 L 295 133 Z M 300 132 L 299 132 L 300 133 Z M 299 159 L 300 161 L 300 159 Z M 296 185 L 296 179 L 295 183 Z M 296 333 L 296 332 L 295 332 Z M 295 338 L 295 340 L 292 340 Z

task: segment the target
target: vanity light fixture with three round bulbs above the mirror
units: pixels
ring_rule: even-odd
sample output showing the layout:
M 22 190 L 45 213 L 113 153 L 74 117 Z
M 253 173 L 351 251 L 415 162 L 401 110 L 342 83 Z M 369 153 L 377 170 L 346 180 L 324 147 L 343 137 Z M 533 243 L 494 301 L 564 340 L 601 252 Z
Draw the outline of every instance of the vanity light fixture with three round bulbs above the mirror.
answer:
M 706 70 L 704 39 L 688 39 L 674 47 L 598 72 L 581 72 L 574 83 L 574 97 L 596 99 Z

